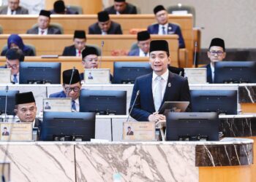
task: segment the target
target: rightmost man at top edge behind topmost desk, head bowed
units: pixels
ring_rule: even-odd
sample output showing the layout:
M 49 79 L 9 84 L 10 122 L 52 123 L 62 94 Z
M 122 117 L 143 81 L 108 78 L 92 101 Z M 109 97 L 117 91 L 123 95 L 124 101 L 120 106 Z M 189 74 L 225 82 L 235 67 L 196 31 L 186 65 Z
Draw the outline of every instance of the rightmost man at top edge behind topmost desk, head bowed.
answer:
M 125 0 L 114 0 L 114 5 L 105 9 L 109 14 L 137 14 L 137 8 Z

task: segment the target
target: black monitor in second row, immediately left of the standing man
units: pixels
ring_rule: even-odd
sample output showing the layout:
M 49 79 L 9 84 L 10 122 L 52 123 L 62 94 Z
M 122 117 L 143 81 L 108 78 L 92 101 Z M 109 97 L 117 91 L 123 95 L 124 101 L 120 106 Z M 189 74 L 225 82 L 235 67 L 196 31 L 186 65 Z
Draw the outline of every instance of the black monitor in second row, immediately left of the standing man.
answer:
M 123 90 L 81 90 L 80 111 L 99 115 L 126 115 L 127 91 Z

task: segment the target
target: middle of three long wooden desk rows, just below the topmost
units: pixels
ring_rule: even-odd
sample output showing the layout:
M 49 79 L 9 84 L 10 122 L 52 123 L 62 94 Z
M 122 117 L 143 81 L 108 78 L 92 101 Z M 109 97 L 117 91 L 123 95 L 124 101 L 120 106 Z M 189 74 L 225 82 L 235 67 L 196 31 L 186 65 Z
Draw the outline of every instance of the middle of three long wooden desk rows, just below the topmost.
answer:
M 7 44 L 9 35 L 0 35 L 0 47 Z M 28 35 L 20 34 L 25 44 L 33 44 L 36 47 L 37 55 L 62 55 L 64 47 L 73 44 L 73 35 Z M 136 41 L 136 35 L 88 35 L 87 44 L 100 45 L 104 41 L 103 55 L 110 56 L 113 50 L 129 50 L 132 43 Z M 151 36 L 155 39 L 165 39 L 169 43 L 172 66 L 178 67 L 178 36 Z

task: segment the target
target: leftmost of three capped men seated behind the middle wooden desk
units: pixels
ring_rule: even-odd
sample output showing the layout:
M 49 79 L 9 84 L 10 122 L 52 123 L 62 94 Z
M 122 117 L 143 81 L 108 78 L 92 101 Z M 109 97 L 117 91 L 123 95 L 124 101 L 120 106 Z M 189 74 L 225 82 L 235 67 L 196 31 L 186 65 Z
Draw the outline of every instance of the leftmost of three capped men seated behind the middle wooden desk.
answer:
M 48 34 L 61 34 L 59 28 L 50 25 L 50 12 L 41 10 L 37 19 L 38 27 L 34 27 L 26 31 L 29 34 L 48 35 Z

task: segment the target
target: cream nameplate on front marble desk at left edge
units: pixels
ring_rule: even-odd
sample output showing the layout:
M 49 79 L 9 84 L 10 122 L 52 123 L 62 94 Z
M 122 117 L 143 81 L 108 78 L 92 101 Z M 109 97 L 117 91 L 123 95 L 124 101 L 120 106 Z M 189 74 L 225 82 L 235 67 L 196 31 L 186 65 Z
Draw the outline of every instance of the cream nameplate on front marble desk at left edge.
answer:
M 33 122 L 0 123 L 0 141 L 32 141 Z

